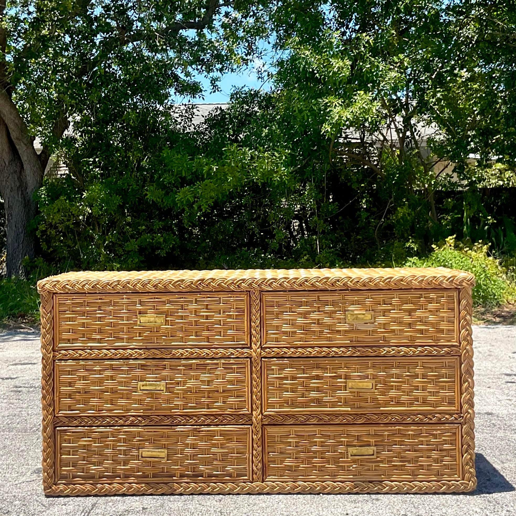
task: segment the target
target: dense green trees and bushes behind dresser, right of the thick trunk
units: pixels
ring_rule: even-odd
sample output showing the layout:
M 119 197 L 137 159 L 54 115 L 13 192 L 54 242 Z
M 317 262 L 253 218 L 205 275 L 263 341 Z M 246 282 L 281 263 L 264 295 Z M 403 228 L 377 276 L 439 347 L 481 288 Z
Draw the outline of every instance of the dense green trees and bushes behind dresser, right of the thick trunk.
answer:
M 115 24 L 112 42 L 124 52 L 95 68 L 98 89 L 88 88 L 84 114 L 55 147 L 71 173 L 39 190 L 47 261 L 400 265 L 454 234 L 516 251 L 510 3 L 307 0 L 238 9 L 236 25 L 221 19 L 217 37 L 180 33 L 166 55 L 132 52 L 125 36 L 120 46 L 123 24 Z M 195 66 L 217 75 L 250 59 L 259 37 L 273 54 L 264 72 L 271 91 L 237 90 L 228 109 L 192 127 L 169 95 L 197 94 L 188 75 L 195 58 L 216 56 L 216 66 Z M 146 81 L 135 80 L 140 73 Z

